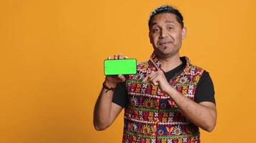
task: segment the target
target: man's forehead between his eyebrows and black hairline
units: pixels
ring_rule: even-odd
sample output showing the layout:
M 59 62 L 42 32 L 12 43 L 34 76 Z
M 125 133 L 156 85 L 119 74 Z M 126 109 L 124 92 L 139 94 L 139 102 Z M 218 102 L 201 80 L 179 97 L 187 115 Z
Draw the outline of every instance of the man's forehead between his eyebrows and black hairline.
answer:
M 175 14 L 163 13 L 163 14 L 157 14 L 153 17 L 152 25 L 159 24 L 162 22 L 166 23 L 166 21 L 172 21 L 173 24 L 178 24 Z

